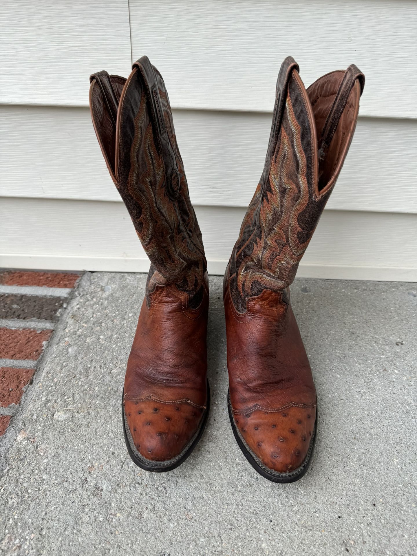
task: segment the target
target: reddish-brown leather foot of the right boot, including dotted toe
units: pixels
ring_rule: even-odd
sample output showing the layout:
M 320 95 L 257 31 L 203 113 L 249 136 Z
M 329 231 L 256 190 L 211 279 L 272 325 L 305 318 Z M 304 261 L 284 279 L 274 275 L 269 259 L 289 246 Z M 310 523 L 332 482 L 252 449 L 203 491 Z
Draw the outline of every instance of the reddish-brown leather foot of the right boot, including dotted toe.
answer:
M 267 468 L 302 463 L 314 432 L 316 392 L 291 305 L 264 290 L 239 314 L 224 292 L 230 400 L 237 428 Z

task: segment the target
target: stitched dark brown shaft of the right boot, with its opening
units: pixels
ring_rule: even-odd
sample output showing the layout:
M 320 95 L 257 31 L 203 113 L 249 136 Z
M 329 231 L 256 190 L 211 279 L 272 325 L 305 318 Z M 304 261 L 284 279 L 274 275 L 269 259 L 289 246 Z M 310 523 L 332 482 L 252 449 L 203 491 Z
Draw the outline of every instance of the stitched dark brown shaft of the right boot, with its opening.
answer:
M 306 90 L 294 59 L 282 64 L 264 171 L 226 269 L 238 312 L 264 290 L 285 295 L 294 280 L 349 150 L 363 86 L 350 66 Z

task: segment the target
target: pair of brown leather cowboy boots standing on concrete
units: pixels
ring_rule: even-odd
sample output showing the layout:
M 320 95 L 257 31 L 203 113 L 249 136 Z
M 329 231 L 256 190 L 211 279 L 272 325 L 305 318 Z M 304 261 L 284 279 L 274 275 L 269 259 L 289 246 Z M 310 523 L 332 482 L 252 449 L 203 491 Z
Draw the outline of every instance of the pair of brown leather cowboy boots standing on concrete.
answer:
M 352 140 L 364 76 L 356 66 L 307 90 L 285 59 L 264 171 L 224 278 L 227 398 L 235 438 L 264 477 L 289 483 L 314 450 L 317 399 L 289 286 Z M 131 458 L 168 471 L 190 455 L 210 409 L 209 284 L 161 74 L 146 56 L 127 78 L 90 78 L 93 125 L 151 267 L 122 398 Z

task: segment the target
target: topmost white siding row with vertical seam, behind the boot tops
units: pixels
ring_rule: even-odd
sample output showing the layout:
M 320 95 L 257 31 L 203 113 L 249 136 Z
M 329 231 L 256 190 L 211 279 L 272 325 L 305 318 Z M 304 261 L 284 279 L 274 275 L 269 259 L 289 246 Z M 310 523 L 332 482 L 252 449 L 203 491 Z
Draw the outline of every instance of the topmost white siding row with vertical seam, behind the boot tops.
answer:
M 0 102 L 87 106 L 90 73 L 130 72 L 131 23 L 133 58 L 150 56 L 177 108 L 270 112 L 291 54 L 307 85 L 356 63 L 362 115 L 417 117 L 416 2 L 131 0 L 130 22 L 128 11 L 128 0 L 3 0 Z

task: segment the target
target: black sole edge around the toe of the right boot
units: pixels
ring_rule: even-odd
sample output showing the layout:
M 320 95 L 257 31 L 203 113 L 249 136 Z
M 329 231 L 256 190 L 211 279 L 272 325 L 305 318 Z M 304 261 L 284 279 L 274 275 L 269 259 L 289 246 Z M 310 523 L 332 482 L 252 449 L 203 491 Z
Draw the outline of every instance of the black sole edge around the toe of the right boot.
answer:
M 316 433 L 317 433 L 317 409 L 316 409 L 316 420 L 314 423 L 314 431 L 310 440 L 309 449 L 307 450 L 307 455 L 304 458 L 302 464 L 294 471 L 289 471 L 289 473 L 280 473 L 279 471 L 274 471 L 273 469 L 267 468 L 266 465 L 262 463 L 262 461 L 258 458 L 256 454 L 252 452 L 249 446 L 246 444 L 245 439 L 240 434 L 239 430 L 236 427 L 235 420 L 233 418 L 232 413 L 232 406 L 230 403 L 230 391 L 227 391 L 227 408 L 229 409 L 229 419 L 230 424 L 232 426 L 233 434 L 235 435 L 235 439 L 239 448 L 242 450 L 245 458 L 252 467 L 265 479 L 268 479 L 274 483 L 294 483 L 295 481 L 301 479 L 301 477 L 307 472 L 307 469 L 310 466 L 312 455 L 314 453 L 314 446 L 316 443 Z

